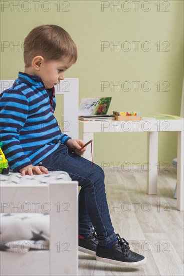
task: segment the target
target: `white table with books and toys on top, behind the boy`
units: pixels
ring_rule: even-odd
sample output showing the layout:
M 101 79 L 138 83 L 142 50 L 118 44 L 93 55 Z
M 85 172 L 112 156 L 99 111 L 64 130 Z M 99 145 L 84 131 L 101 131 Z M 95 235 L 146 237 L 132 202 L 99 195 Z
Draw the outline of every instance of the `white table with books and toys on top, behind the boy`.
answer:
M 155 164 L 158 162 L 158 132 L 177 131 L 177 209 L 183 211 L 184 120 L 181 117 L 165 114 L 154 114 L 151 117 L 144 117 L 144 120 L 141 121 L 79 121 L 79 131 L 85 142 L 94 139 L 94 133 L 147 132 L 147 162 L 151 168 L 147 172 L 147 193 L 149 195 L 157 194 L 158 170 Z M 91 160 L 91 147 L 86 148 L 83 156 Z

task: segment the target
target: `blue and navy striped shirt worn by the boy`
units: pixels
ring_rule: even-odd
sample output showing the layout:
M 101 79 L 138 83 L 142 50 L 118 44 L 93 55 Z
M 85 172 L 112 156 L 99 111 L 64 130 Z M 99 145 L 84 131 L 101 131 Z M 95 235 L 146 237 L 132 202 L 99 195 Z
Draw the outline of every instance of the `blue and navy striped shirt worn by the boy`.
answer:
M 55 107 L 54 87 L 46 90 L 40 77 L 22 72 L 0 94 L 0 141 L 14 172 L 36 165 L 71 139 L 61 133 Z

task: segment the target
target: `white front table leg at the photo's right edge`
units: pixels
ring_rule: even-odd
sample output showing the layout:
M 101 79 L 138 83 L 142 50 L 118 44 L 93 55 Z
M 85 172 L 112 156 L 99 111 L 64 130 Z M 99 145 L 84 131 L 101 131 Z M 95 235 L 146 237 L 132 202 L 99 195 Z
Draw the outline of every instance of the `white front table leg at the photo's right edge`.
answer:
M 177 210 L 184 210 L 183 201 L 183 167 L 184 167 L 184 134 L 183 131 L 177 132 Z

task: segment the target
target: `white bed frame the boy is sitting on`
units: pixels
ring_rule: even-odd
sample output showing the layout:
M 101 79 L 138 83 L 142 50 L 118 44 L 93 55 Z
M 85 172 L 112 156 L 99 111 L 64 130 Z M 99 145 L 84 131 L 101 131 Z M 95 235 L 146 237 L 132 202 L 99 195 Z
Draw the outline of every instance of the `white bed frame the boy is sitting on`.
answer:
M 1 91 L 12 86 L 13 80 L 2 80 Z M 65 79 L 55 86 L 56 94 L 64 95 L 64 133 L 78 137 L 78 79 Z M 57 103 L 58 104 L 58 103 Z M 72 113 L 71 113 L 72 110 Z M 0 175 L 1 177 L 1 175 Z M 0 252 L 1 276 L 78 275 L 78 182 L 55 181 L 50 184 L 0 186 L 1 213 L 11 213 L 14 206 L 24 202 L 49 202 L 50 249 L 29 252 Z M 4 208 L 4 204 L 9 206 Z M 69 206 L 65 212 L 66 202 Z M 35 212 L 31 204 L 30 213 Z M 68 212 L 69 211 L 69 212 Z M 24 212 L 24 210 L 21 210 Z

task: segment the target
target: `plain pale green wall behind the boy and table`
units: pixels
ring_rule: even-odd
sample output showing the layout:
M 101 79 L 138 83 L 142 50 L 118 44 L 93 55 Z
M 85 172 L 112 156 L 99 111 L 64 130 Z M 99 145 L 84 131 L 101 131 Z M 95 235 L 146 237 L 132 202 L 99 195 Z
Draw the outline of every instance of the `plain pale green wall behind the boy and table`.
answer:
M 180 114 L 183 1 L 140 0 L 137 8 L 133 1 L 1 1 L 1 79 L 14 79 L 24 71 L 22 43 L 42 24 L 60 25 L 78 47 L 78 61 L 66 77 L 79 78 L 79 101 L 112 96 L 109 114 Z M 102 82 L 109 87 L 102 89 Z M 119 83 L 120 91 L 111 83 Z M 60 96 L 57 100 L 60 120 Z M 94 144 L 99 165 L 146 161 L 146 133 L 99 133 Z M 159 133 L 160 165 L 171 164 L 176 156 L 177 133 Z

